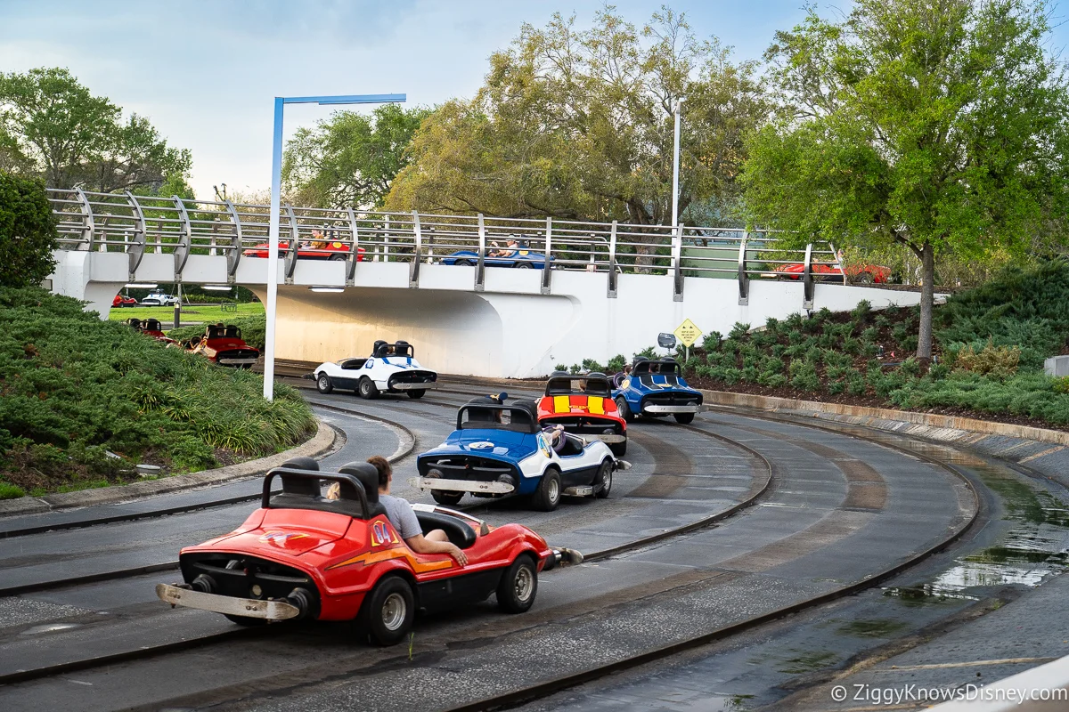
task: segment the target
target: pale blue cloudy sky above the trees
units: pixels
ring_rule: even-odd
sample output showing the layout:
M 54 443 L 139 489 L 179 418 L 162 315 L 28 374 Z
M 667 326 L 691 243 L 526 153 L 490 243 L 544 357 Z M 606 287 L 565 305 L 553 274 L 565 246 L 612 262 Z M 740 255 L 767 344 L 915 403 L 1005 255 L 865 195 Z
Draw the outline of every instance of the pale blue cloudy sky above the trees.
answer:
M 1069 0 L 1064 0 L 1069 6 Z M 617 0 L 641 27 L 665 0 Z M 760 59 L 805 0 L 672 0 L 699 38 L 716 35 L 735 59 Z M 173 146 L 192 152 L 190 184 L 263 191 L 270 186 L 273 97 L 406 94 L 407 105 L 470 97 L 487 59 L 523 22 L 555 12 L 589 25 L 604 5 L 587 0 L 0 0 L 0 72 L 68 68 L 95 95 L 146 116 Z M 849 0 L 818 2 L 841 15 Z M 1067 12 L 1066 14 L 1069 14 Z M 1063 21 L 1058 3 L 1056 22 Z M 1069 44 L 1057 27 L 1052 49 Z M 291 105 L 285 135 L 331 109 Z

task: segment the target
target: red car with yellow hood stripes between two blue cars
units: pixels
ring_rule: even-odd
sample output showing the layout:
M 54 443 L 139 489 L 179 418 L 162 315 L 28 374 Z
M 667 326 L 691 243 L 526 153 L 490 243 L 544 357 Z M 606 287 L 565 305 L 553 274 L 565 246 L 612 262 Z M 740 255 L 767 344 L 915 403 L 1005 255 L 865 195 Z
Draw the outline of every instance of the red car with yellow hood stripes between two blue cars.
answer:
M 573 436 L 600 440 L 617 457 L 628 454 L 628 423 L 620 417 L 605 374 L 554 373 L 538 404 L 538 422 L 542 427 L 563 425 Z

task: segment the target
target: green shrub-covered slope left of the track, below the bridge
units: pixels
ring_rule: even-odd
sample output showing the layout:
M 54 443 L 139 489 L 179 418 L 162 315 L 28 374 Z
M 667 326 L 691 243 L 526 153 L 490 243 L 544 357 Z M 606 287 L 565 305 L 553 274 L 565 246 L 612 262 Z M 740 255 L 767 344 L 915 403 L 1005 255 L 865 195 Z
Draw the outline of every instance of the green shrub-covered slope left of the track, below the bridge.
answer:
M 292 389 L 164 348 L 73 299 L 0 288 L 0 497 L 196 471 L 275 453 L 314 427 Z M 115 458 L 108 452 L 119 455 Z

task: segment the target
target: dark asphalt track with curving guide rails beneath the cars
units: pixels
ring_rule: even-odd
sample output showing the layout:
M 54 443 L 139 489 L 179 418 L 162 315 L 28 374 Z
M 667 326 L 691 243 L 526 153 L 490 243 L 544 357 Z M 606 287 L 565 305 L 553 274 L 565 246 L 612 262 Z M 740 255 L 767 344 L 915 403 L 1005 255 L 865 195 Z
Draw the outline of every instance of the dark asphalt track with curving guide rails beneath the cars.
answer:
M 348 436 L 322 466 L 394 453 L 406 438 L 413 454 L 425 450 L 452 429 L 456 406 L 481 392 L 459 384 L 421 400 L 375 401 L 347 393 L 309 394 L 322 407 L 320 415 Z M 959 474 L 923 459 L 946 459 L 945 453 L 909 454 L 897 448 L 901 443 L 893 447 L 724 412 L 702 414 L 691 427 L 638 422 L 629 432 L 626 459 L 634 468 L 617 473 L 607 501 L 566 499 L 555 512 L 530 512 L 515 501 L 465 500 L 462 506 L 470 505 L 466 508 L 491 523 L 518 521 L 555 544 L 586 552 L 626 548 L 649 537 L 660 541 L 542 576 L 538 602 L 523 616 L 502 616 L 491 601 L 423 617 L 410 650 L 367 648 L 338 624 L 272 626 L 235 634 L 236 628 L 219 616 L 171 611 L 155 599 L 154 584 L 173 580 L 173 571 L 52 585 L 64 577 L 107 576 L 173 561 L 181 545 L 230 531 L 254 503 L 165 517 L 145 512 L 182 497 L 195 505 L 254 493 L 254 480 L 99 508 L 135 508 L 128 513 L 141 519 L 0 540 L 0 588 L 49 584 L 0 599 L 0 680 L 16 679 L 20 671 L 33 677 L 33 670 L 56 670 L 0 685 L 0 707 L 423 710 L 512 705 L 570 676 L 622 669 L 651 651 L 699 645 L 702 636 L 712 640 L 742 632 L 756 620 L 871 586 L 952 541 L 978 511 L 962 476 L 969 476 L 967 464 L 954 465 Z M 405 481 L 414 473 L 413 454 L 394 465 L 396 491 L 430 501 Z M 754 506 L 737 509 L 747 503 Z M 84 524 L 94 515 L 106 512 L 49 513 L 0 526 L 27 528 L 72 517 Z M 725 519 L 683 533 L 717 515 Z M 140 656 L 145 648 L 157 650 Z M 93 663 L 115 654 L 127 660 Z

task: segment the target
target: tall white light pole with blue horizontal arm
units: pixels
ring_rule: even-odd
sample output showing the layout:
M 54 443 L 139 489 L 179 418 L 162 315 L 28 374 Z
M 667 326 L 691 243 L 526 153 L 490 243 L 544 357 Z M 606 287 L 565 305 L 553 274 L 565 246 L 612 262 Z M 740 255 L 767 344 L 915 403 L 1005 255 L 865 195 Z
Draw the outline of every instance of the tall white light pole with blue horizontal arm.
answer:
M 282 110 L 288 104 L 400 104 L 404 94 L 350 94 L 344 96 L 276 96 L 275 143 L 272 151 L 270 227 L 267 240 L 267 328 L 264 333 L 264 398 L 275 398 L 275 314 L 278 301 L 278 223 L 282 193 Z

